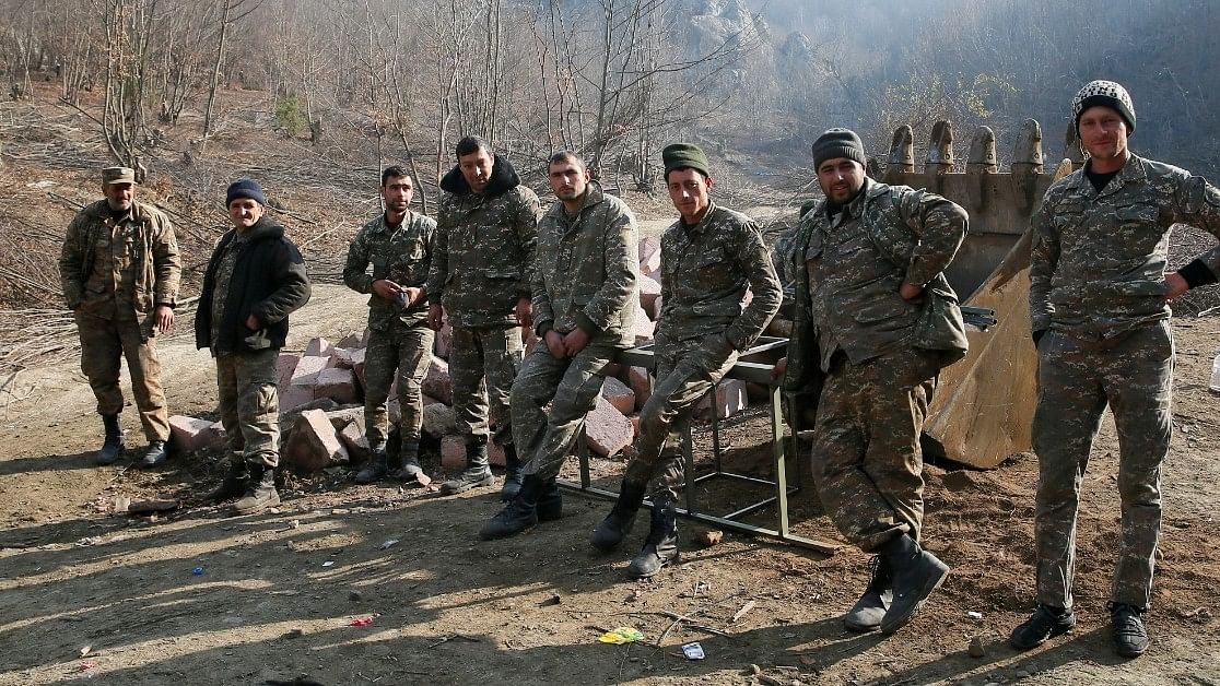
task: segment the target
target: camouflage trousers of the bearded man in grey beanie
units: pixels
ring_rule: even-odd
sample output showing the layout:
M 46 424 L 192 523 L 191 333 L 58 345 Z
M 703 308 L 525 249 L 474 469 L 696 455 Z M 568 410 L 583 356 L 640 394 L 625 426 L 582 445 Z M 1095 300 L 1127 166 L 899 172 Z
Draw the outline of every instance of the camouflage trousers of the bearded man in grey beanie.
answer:
M 935 355 L 899 350 L 860 364 L 831 359 L 814 424 L 817 495 L 834 526 L 864 552 L 924 524 L 920 434 L 936 389 Z

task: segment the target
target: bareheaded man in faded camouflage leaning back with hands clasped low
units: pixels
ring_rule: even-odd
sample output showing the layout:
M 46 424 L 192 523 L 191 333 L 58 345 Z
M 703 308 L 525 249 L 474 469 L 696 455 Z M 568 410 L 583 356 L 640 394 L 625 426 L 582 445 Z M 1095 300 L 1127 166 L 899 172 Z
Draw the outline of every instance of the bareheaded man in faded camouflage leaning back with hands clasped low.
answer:
M 634 342 L 636 217 L 590 180 L 584 161 L 571 152 L 551 156 L 548 179 L 559 200 L 538 223 L 532 272 L 542 341 L 526 357 L 511 394 L 525 480 L 483 526 L 483 539 L 560 517 L 555 478 L 601 392 L 606 366 Z

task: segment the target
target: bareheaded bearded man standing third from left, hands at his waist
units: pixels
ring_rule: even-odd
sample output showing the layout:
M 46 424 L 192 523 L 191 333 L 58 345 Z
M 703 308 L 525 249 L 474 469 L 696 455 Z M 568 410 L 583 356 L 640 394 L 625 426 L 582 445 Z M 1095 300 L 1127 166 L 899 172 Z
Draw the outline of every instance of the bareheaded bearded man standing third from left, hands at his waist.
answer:
M 365 428 L 371 453 L 368 464 L 356 474 L 356 483 L 371 484 L 389 470 L 386 442 L 389 413 L 386 401 L 398 373 L 398 401 L 401 407 L 399 439 L 401 450 L 394 467 L 401 476 L 415 480 L 420 473 L 420 424 L 423 395 L 420 383 L 432 362 L 433 331 L 427 327 L 425 283 L 432 256 L 437 223 L 411 212 L 415 184 L 401 167 L 382 172 L 381 194 L 386 212 L 368 222 L 351 240 L 343 283 L 356 292 L 370 294 L 368 346 L 365 353 Z M 372 274 L 367 273 L 372 263 Z

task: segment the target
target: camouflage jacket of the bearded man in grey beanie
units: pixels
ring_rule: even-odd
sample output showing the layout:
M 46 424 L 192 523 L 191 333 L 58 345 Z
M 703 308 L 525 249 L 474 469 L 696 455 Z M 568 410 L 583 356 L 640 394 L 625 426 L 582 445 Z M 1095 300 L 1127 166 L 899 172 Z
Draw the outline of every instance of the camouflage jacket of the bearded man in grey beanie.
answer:
M 793 257 L 803 268 L 795 274 L 788 386 L 828 370 L 838 350 L 853 364 L 905 347 L 955 351 L 946 362 L 960 358 L 965 330 L 942 272 L 965 235 L 966 211 L 958 205 L 871 179 L 833 219 L 825 200 L 804 214 Z M 903 284 L 924 286 L 924 296 L 903 300 Z

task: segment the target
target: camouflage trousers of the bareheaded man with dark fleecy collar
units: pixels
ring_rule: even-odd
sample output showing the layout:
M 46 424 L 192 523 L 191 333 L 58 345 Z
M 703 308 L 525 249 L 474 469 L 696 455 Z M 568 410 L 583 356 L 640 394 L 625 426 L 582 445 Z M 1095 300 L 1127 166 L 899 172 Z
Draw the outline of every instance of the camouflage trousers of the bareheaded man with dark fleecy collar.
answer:
M 520 327 L 454 327 L 449 381 L 458 433 L 467 444 L 486 439 L 488 418 L 495 428 L 495 442 L 512 444 L 509 392 L 523 353 Z

